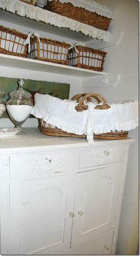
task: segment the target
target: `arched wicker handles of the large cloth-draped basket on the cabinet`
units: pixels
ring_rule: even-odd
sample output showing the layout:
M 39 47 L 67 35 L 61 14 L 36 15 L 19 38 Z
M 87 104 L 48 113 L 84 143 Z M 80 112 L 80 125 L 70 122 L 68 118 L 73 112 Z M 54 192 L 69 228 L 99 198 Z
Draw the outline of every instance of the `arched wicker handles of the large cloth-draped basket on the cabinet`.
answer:
M 106 99 L 98 93 L 81 93 L 79 95 L 75 95 L 74 97 L 72 97 L 72 99 L 76 99 L 79 101 L 79 104 L 77 105 L 77 107 L 75 107 L 79 111 L 86 110 L 88 108 L 87 105 L 84 105 L 84 101 L 87 100 L 88 102 L 91 102 L 91 98 L 96 99 L 97 104 L 103 102 L 103 105 L 96 105 L 95 109 L 106 110 L 107 108 L 110 108 L 110 105 L 107 104 Z

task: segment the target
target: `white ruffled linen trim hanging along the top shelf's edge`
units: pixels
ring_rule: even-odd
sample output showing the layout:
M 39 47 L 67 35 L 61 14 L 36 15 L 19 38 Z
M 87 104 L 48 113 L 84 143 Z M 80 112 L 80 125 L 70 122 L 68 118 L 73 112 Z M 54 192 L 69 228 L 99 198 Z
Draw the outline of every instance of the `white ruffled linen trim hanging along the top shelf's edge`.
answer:
M 88 26 L 87 24 L 52 13 L 51 11 L 43 10 L 42 8 L 26 4 L 19 0 L 0 0 L 0 8 L 33 20 L 49 23 L 56 27 L 66 27 L 76 32 L 82 32 L 84 35 L 102 39 L 104 42 L 109 42 L 110 39 L 110 32 Z

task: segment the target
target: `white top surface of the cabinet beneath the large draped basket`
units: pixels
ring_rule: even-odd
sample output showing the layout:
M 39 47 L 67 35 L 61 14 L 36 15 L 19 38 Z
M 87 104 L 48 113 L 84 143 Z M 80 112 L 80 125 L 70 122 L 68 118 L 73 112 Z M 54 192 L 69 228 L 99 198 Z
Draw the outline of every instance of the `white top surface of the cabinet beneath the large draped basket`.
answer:
M 63 138 L 43 135 L 38 128 L 23 128 L 23 131 L 26 132 L 25 135 L 17 134 L 12 137 L 0 138 L 0 154 L 8 154 L 8 152 L 17 154 L 23 151 L 81 149 L 96 146 L 122 145 L 134 141 L 129 138 L 122 141 L 95 139 L 94 143 L 88 143 L 84 138 Z

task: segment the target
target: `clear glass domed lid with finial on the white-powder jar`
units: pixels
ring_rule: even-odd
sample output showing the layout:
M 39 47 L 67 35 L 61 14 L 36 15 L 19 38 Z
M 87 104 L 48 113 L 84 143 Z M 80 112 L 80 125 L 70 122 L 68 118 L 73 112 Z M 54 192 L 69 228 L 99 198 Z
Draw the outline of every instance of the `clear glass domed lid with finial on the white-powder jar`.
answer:
M 13 90 L 12 92 L 10 92 L 9 96 L 15 96 L 18 98 L 30 98 L 31 94 L 23 89 L 24 80 L 20 79 L 18 83 L 19 83 L 19 88 L 17 90 Z

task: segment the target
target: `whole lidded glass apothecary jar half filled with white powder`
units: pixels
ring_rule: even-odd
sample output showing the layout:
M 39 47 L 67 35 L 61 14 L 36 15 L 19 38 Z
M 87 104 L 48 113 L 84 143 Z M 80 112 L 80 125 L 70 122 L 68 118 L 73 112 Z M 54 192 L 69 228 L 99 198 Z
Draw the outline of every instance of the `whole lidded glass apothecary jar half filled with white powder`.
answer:
M 10 99 L 7 102 L 7 111 L 15 128 L 21 129 L 21 125 L 29 117 L 33 104 L 30 100 L 31 94 L 24 90 L 23 79 L 18 81 L 19 88 L 9 93 Z

